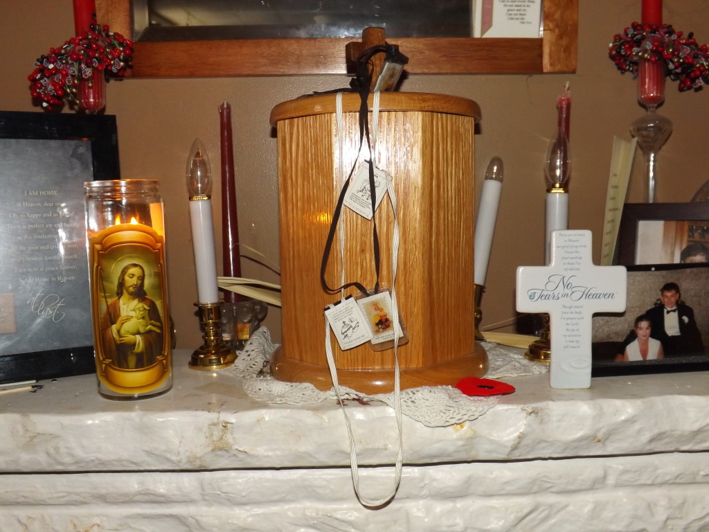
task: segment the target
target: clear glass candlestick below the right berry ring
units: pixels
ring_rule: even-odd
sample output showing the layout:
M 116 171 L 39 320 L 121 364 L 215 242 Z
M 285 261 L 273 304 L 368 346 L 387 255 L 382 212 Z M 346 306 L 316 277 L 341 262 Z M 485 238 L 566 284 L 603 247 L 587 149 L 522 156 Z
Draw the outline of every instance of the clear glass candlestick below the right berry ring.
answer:
M 664 102 L 664 64 L 660 60 L 640 60 L 637 74 L 637 101 L 647 113 L 632 123 L 630 133 L 637 138 L 645 157 L 644 201 L 654 203 L 657 181 L 657 153 L 672 133 L 672 122 L 657 113 Z

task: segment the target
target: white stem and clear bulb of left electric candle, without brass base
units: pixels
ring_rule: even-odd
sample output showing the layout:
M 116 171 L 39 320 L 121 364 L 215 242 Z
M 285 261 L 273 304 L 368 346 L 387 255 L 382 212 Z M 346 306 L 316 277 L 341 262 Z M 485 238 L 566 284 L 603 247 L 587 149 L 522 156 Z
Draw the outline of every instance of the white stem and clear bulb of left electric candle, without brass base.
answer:
M 212 225 L 212 177 L 206 151 L 199 139 L 194 141 L 190 149 L 186 173 L 197 298 L 199 303 L 217 303 L 219 294 Z

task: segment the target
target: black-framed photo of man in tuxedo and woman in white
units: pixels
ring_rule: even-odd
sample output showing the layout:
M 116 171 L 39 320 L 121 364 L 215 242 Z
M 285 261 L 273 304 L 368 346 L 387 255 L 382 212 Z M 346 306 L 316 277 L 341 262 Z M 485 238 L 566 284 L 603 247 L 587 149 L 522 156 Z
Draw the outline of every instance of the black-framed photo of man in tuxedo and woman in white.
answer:
M 594 377 L 709 370 L 709 263 L 627 267 L 623 314 L 593 316 Z

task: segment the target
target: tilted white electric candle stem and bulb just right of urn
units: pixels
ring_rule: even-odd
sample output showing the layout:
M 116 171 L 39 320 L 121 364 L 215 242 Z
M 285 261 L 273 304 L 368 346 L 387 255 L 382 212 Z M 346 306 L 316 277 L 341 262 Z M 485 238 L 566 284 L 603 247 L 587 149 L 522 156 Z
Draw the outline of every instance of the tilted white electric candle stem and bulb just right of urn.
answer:
M 480 205 L 475 221 L 474 283 L 485 286 L 490 261 L 492 238 L 495 233 L 497 210 L 502 192 L 503 164 L 500 157 L 493 157 L 485 172 Z

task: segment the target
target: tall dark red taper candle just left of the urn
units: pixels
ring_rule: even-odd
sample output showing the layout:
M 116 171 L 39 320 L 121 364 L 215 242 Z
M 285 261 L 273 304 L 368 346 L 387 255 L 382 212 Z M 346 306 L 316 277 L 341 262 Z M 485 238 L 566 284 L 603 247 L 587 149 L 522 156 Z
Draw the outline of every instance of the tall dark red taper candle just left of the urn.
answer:
M 231 139 L 231 106 L 225 101 L 219 106 L 222 176 L 222 244 L 223 275 L 241 277 L 239 224 L 236 216 L 234 183 L 234 150 Z M 230 290 L 224 291 L 224 301 L 235 303 L 243 298 Z

